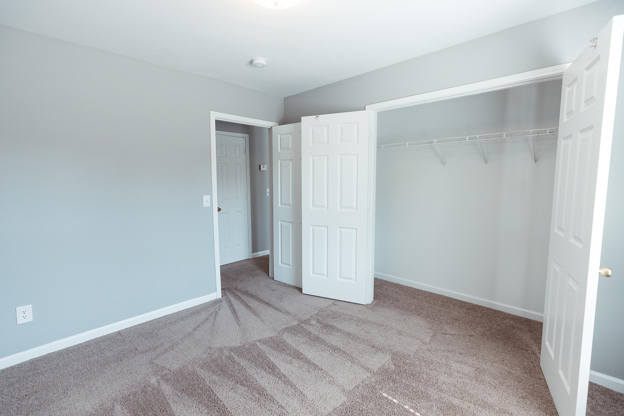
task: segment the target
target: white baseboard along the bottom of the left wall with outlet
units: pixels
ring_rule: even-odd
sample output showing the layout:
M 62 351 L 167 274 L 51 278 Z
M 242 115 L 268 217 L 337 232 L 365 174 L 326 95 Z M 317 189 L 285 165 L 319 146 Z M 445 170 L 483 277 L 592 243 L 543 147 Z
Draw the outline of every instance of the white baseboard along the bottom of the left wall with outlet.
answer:
M 142 324 L 143 322 L 151 321 L 152 319 L 172 314 L 173 312 L 182 311 L 183 309 L 197 306 L 202 303 L 212 301 L 213 299 L 217 299 L 217 293 L 211 293 L 206 296 L 195 297 L 195 299 L 190 299 L 175 305 L 161 307 L 155 311 L 124 319 L 123 321 L 115 322 L 114 324 L 91 329 L 90 331 L 82 332 L 82 334 L 72 335 L 71 337 L 59 339 L 58 341 L 52 341 L 49 344 L 17 352 L 17 354 L 13 354 L 12 356 L 0 358 L 0 370 L 35 357 L 43 356 L 49 352 L 59 351 L 59 349 L 75 346 L 76 344 L 80 344 L 80 342 L 89 341 L 90 339 L 111 334 L 112 332 L 117 332 L 130 326 Z

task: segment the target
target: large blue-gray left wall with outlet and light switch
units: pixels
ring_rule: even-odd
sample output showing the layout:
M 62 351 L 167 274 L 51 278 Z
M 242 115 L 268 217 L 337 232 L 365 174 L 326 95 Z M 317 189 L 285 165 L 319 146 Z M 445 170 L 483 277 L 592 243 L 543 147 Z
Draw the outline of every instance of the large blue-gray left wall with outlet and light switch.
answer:
M 0 357 L 214 293 L 208 112 L 283 100 L 7 26 L 0 56 Z

